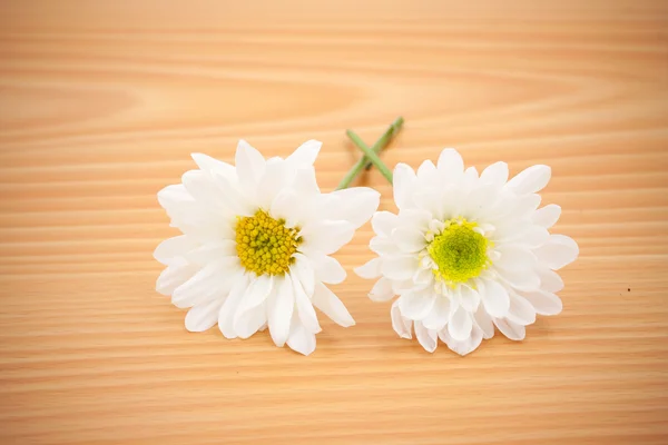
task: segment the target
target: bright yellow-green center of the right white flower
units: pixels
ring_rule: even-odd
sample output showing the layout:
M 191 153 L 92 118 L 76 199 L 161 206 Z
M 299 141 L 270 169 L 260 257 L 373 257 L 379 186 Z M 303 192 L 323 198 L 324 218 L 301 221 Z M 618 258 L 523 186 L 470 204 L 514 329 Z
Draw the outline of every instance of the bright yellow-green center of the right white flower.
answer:
M 439 266 L 436 279 L 450 286 L 478 277 L 490 264 L 487 256 L 490 241 L 473 230 L 478 226 L 465 218 L 445 221 L 445 228 L 434 237 L 426 250 Z

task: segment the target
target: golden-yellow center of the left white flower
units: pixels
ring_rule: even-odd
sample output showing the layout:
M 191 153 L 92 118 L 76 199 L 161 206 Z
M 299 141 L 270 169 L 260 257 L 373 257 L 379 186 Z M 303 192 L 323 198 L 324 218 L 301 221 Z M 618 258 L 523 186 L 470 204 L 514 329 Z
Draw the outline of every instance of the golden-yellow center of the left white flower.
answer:
M 253 216 L 237 217 L 236 249 L 242 266 L 256 275 L 279 275 L 294 263 L 293 254 L 302 238 L 297 229 L 285 227 L 259 209 Z

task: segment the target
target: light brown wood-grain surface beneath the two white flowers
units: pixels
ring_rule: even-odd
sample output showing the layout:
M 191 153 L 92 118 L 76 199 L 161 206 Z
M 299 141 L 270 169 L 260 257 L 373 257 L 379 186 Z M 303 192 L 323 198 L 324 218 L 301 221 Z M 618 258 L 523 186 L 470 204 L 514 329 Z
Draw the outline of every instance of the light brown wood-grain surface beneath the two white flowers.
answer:
M 668 6 L 463 3 L 1 1 L 0 443 L 668 443 Z M 317 138 L 332 189 L 399 115 L 391 166 L 552 166 L 563 313 L 428 354 L 352 275 L 364 226 L 311 357 L 187 333 L 151 254 L 189 152 Z

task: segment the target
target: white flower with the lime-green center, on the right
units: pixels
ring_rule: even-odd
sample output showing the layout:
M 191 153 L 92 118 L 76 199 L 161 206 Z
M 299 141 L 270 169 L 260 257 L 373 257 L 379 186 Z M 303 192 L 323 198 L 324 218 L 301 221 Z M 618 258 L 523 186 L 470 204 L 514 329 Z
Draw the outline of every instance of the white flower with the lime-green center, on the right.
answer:
M 372 218 L 379 257 L 356 269 L 381 277 L 372 300 L 400 297 L 391 309 L 392 326 L 415 336 L 433 352 L 436 339 L 460 355 L 474 350 L 494 326 L 513 340 L 536 315 L 556 315 L 563 281 L 554 271 L 573 261 L 578 245 L 550 235 L 561 208 L 538 208 L 537 195 L 550 180 L 547 166 L 529 167 L 508 180 L 497 162 L 479 176 L 464 170 L 461 156 L 445 149 L 438 167 L 424 161 L 418 172 L 404 164 L 394 170 L 399 215 Z

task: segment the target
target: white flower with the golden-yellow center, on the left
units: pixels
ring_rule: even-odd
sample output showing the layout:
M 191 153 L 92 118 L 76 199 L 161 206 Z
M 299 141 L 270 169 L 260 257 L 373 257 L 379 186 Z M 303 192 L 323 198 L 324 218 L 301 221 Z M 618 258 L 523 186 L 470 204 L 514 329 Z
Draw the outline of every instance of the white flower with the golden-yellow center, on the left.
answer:
M 199 169 L 158 192 L 184 235 L 156 248 L 167 266 L 156 288 L 190 308 L 188 330 L 217 323 L 225 337 L 247 338 L 268 326 L 276 346 L 308 355 L 321 330 L 314 306 L 354 325 L 325 286 L 346 276 L 330 255 L 371 218 L 380 196 L 370 188 L 321 194 L 313 168 L 321 145 L 311 140 L 286 159 L 265 160 L 242 140 L 236 166 L 194 154 Z

